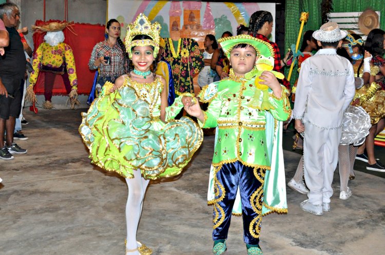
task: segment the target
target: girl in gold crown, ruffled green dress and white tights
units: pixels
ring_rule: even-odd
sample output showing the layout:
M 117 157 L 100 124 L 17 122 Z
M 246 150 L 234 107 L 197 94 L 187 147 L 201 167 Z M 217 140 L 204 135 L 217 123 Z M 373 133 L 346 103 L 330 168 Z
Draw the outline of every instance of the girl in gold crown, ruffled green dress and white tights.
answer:
M 149 180 L 180 174 L 203 140 L 194 121 L 174 120 L 182 101 L 191 103 L 191 97 L 182 95 L 167 107 L 166 82 L 155 75 L 160 29 L 143 14 L 128 25 L 125 44 L 134 69 L 104 85 L 102 96 L 83 113 L 80 126 L 92 163 L 126 179 L 130 255 L 152 253 L 136 239 Z

